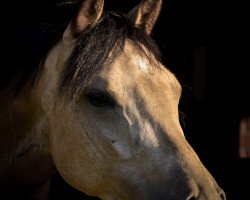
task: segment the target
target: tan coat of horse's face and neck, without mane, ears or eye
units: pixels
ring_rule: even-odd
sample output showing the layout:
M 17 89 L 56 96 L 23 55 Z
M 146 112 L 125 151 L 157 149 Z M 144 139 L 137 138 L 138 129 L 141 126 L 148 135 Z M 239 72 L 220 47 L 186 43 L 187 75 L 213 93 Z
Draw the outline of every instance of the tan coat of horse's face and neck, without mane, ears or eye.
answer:
M 46 186 L 55 165 L 73 187 L 104 200 L 225 199 L 184 137 L 179 82 L 150 53 L 126 42 L 88 86 L 108 93 L 115 107 L 94 107 L 86 93 L 75 103 L 58 99 L 75 44 L 71 26 L 35 87 L 27 84 L 15 99 L 0 94 L 0 183 L 12 187 L 19 178 L 19 187 Z

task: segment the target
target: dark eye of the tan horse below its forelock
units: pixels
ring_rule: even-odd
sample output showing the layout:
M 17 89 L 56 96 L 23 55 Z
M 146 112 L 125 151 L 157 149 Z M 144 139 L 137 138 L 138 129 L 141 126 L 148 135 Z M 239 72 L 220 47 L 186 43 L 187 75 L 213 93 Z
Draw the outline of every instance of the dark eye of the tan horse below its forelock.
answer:
M 100 90 L 90 90 L 87 93 L 87 99 L 90 104 L 98 108 L 115 106 L 115 101 L 111 98 L 111 96 Z

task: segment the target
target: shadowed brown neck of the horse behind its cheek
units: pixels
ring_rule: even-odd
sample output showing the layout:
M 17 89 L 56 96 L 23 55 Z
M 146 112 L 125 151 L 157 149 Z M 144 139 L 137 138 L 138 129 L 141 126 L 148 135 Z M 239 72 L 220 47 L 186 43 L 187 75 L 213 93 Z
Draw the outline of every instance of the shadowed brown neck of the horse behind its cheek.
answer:
M 55 53 L 50 57 L 56 57 Z M 26 82 L 18 96 L 13 97 L 9 88 L 0 91 L 0 148 L 8 149 L 6 155 L 0 153 L 0 159 L 6 163 L 15 159 L 29 144 L 39 146 L 43 155 L 50 156 L 48 145 L 49 123 L 48 115 L 52 111 L 55 82 L 58 79 L 55 69 L 57 59 L 49 58 L 41 66 L 42 72 L 35 84 L 32 80 Z M 1 174 L 1 169 L 0 169 Z

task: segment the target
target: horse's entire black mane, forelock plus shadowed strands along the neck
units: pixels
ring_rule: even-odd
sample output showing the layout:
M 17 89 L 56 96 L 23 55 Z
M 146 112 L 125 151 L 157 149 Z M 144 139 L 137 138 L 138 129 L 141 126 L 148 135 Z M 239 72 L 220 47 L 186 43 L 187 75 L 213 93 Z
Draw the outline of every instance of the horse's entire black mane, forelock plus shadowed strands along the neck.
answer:
M 47 52 L 61 39 L 67 23 L 37 24 L 42 34 L 35 36 L 38 41 L 32 41 L 32 48 L 25 53 L 19 66 L 13 68 L 12 74 L 1 79 L 0 90 L 8 88 L 16 97 L 29 80 L 34 85 L 42 72 Z M 150 36 L 135 27 L 124 14 L 106 12 L 98 23 L 87 27 L 78 37 L 59 77 L 58 96 L 77 99 L 91 80 L 123 51 L 125 41 L 146 55 L 149 61 L 151 58 L 146 51 L 161 61 L 160 51 Z

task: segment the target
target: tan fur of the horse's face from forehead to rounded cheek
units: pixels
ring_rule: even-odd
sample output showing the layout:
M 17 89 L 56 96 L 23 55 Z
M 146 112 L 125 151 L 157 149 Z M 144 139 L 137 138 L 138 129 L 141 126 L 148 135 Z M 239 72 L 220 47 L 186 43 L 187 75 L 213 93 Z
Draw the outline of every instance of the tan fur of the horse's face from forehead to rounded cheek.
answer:
M 75 188 L 103 199 L 150 198 L 140 185 L 147 182 L 170 193 L 167 177 L 175 168 L 176 176 L 218 187 L 183 136 L 180 84 L 156 60 L 148 72 L 140 70 L 138 57 L 126 43 L 124 53 L 89 86 L 111 94 L 115 109 L 95 108 L 83 94 L 76 108 L 65 101 L 53 110 L 50 144 L 57 169 Z M 207 199 L 218 199 L 216 190 L 208 190 Z

